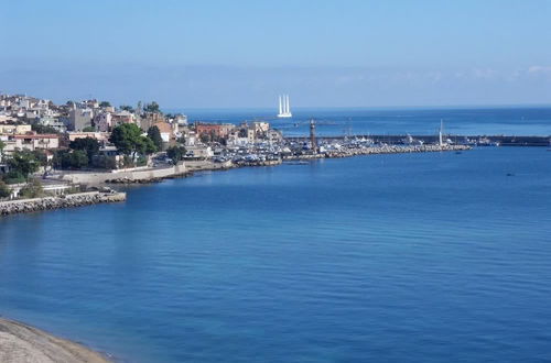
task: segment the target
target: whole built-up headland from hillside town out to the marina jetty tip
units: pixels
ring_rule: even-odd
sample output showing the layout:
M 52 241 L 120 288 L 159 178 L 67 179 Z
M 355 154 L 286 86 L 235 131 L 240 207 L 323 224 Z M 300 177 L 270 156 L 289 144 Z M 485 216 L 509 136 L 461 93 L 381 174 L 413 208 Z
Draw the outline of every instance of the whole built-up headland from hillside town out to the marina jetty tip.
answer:
M 468 144 L 374 139 L 283 138 L 266 121 L 191 122 L 159 103 L 112 106 L 96 99 L 55 105 L 0 95 L 0 200 L 66 196 L 116 183 L 150 183 L 196 170 L 270 166 L 282 161 L 381 153 L 457 151 Z M 388 139 L 388 138 L 387 138 Z

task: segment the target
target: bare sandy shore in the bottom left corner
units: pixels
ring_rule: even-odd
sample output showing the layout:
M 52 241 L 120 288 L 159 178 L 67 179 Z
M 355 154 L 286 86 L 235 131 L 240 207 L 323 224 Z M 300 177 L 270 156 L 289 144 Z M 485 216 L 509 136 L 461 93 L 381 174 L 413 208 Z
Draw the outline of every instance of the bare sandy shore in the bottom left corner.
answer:
M 109 363 L 110 361 L 84 345 L 18 321 L 0 318 L 0 362 Z

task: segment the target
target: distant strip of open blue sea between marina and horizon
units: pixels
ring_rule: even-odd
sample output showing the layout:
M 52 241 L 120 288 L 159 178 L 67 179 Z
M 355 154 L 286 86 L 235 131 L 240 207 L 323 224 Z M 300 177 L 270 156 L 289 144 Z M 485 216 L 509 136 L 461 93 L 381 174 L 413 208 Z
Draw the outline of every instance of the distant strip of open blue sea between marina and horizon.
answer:
M 170 110 L 190 121 L 240 123 L 269 121 L 287 136 L 309 133 L 315 119 L 320 135 L 433 135 L 440 122 L 445 133 L 460 135 L 551 135 L 551 107 L 478 109 L 296 109 L 292 119 L 274 118 L 274 110 Z

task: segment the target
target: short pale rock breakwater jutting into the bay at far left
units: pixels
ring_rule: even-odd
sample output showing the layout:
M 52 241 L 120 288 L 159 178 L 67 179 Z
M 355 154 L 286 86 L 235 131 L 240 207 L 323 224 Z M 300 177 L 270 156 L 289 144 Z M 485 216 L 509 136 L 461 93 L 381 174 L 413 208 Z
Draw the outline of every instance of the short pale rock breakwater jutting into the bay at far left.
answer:
M 28 213 L 60 208 L 82 207 L 104 202 L 125 201 L 126 193 L 89 191 L 61 197 L 9 200 L 0 202 L 0 216 Z

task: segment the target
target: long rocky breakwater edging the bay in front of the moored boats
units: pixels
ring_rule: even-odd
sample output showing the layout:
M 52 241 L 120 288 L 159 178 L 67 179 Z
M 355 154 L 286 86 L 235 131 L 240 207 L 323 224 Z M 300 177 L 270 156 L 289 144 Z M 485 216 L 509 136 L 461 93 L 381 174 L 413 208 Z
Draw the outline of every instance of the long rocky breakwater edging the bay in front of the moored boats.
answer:
M 357 148 L 344 148 L 338 151 L 326 151 L 317 154 L 302 154 L 285 156 L 288 161 L 300 161 L 305 158 L 335 158 L 335 157 L 350 157 L 357 155 L 376 155 L 376 154 L 404 154 L 404 153 L 430 153 L 430 152 L 450 152 L 450 151 L 466 151 L 471 150 L 468 145 L 414 145 L 414 146 L 399 146 L 399 145 L 383 145 L 383 146 L 369 146 Z

